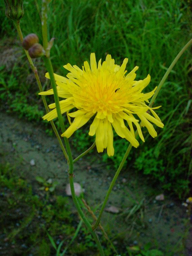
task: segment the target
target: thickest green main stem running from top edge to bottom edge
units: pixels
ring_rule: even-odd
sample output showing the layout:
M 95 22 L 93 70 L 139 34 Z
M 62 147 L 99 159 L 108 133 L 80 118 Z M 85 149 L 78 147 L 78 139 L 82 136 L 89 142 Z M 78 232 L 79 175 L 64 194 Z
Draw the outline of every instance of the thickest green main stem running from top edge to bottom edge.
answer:
M 57 85 L 55 82 L 55 78 L 54 78 L 54 72 L 53 72 L 53 66 L 50 60 L 50 49 L 48 48 L 48 40 L 47 40 L 47 13 L 48 13 L 48 4 L 49 2 L 47 0 L 42 0 L 42 36 L 43 36 L 43 48 L 45 50 L 45 57 L 44 57 L 44 62 L 47 68 L 47 71 L 49 72 L 50 75 L 50 80 L 51 80 L 51 84 L 53 87 L 53 92 L 54 92 L 54 99 L 55 99 L 55 105 L 56 105 L 56 110 L 57 110 L 57 116 L 59 119 L 59 124 L 61 127 L 62 132 L 65 132 L 65 125 L 63 122 L 63 117 L 61 114 L 61 108 L 60 108 L 60 104 L 59 104 L 59 97 L 58 97 L 58 92 L 57 92 Z M 70 189 L 71 189 L 71 195 L 73 198 L 73 202 L 76 206 L 76 209 L 79 213 L 79 215 L 82 217 L 82 220 L 84 221 L 85 225 L 87 226 L 87 228 L 89 229 L 89 231 L 91 232 L 93 238 L 95 239 L 95 242 L 97 244 L 97 247 L 100 251 L 100 255 L 104 256 L 104 252 L 103 249 L 101 247 L 101 244 L 99 242 L 99 239 L 97 237 L 97 234 L 92 230 L 91 224 L 90 222 L 87 220 L 85 214 L 83 213 L 77 199 L 76 199 L 76 195 L 75 195 L 75 190 L 74 190 L 74 182 L 73 182 L 73 159 L 72 159 L 72 154 L 71 154 L 71 149 L 70 149 L 70 145 L 69 145 L 69 141 L 66 137 L 64 137 L 64 141 L 65 141 L 65 146 L 66 146 L 66 150 L 69 156 L 69 183 L 70 183 Z

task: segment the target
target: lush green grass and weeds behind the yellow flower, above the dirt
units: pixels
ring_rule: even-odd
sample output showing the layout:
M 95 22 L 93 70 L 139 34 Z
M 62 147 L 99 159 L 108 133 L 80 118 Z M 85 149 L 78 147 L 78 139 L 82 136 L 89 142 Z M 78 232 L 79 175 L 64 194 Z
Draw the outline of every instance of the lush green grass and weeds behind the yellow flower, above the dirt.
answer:
M 40 1 L 38 1 L 41 7 Z M 53 0 L 50 4 L 49 37 L 55 37 L 51 50 L 54 70 L 66 75 L 63 65 L 82 66 L 95 52 L 97 60 L 111 54 L 117 64 L 129 58 L 127 70 L 139 66 L 137 79 L 148 73 L 151 83 L 146 91 L 157 86 L 174 57 L 191 38 L 191 1 L 117 1 L 117 0 Z M 44 109 L 38 96 L 36 82 L 31 74 L 12 21 L 1 14 L 1 64 L 0 98 L 2 109 L 16 112 L 20 117 L 42 122 Z M 33 0 L 24 1 L 25 15 L 21 20 L 24 36 L 36 33 L 42 42 L 39 13 Z M 35 60 L 42 78 L 43 88 L 50 88 L 45 81 L 44 65 Z M 142 171 L 147 177 L 161 183 L 162 188 L 179 197 L 189 192 L 191 175 L 191 55 L 184 53 L 165 82 L 155 106 L 164 129 L 157 129 L 158 137 L 152 139 L 144 130 L 145 144 L 132 150 L 129 165 Z M 27 77 L 27 79 L 26 79 Z M 53 98 L 47 97 L 48 102 Z M 44 127 L 50 133 L 49 125 Z M 77 149 L 85 150 L 94 138 L 83 127 L 73 136 Z M 75 144 L 76 143 L 76 144 Z M 142 143 L 141 143 L 142 144 Z M 115 136 L 115 157 L 102 159 L 117 167 L 128 146 L 126 140 Z M 144 149 L 144 150 L 143 150 Z

